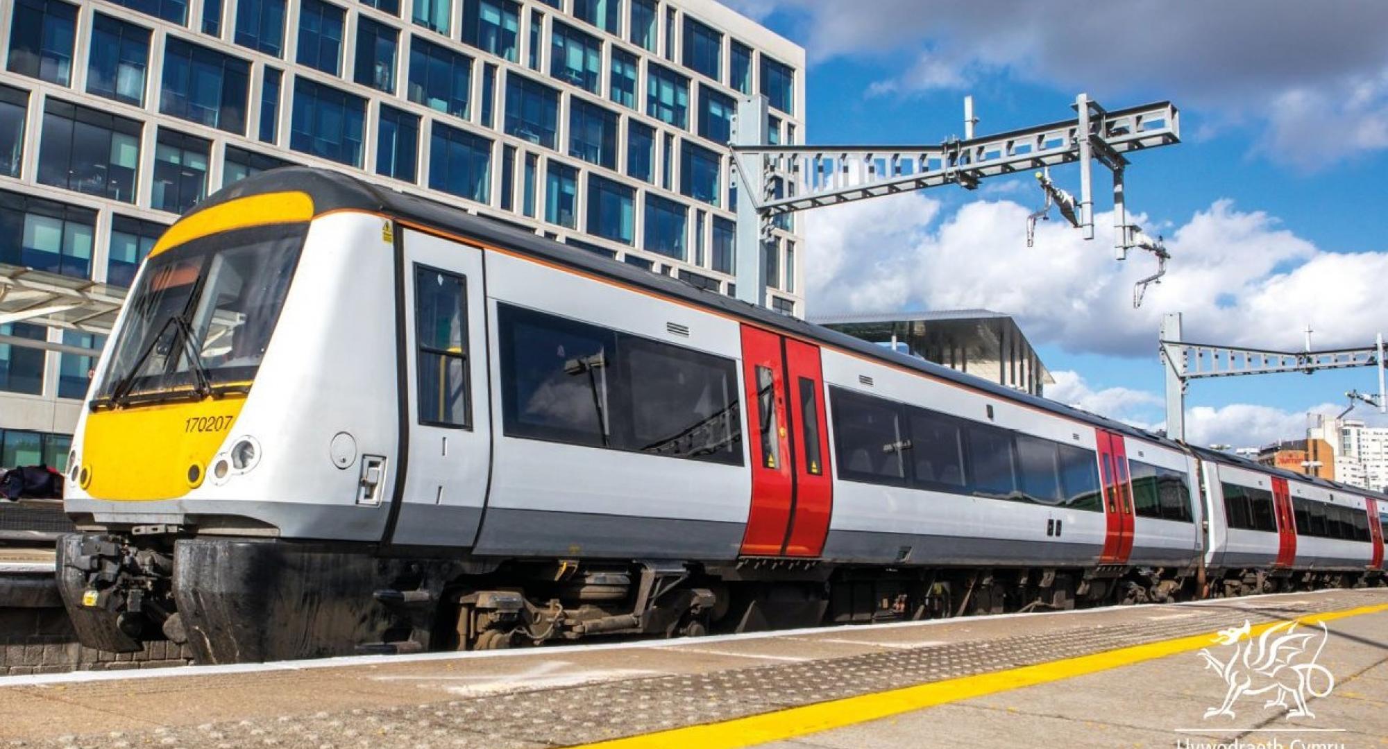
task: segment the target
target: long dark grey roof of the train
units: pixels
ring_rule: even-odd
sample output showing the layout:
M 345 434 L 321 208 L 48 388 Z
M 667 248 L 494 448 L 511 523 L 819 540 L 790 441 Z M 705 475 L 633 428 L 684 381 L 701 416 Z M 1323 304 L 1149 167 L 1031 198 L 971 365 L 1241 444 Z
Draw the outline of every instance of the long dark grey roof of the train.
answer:
M 308 197 L 314 201 L 314 215 L 321 215 L 329 211 L 350 209 L 398 216 L 440 232 L 473 239 L 483 244 L 493 244 L 512 251 L 520 251 L 555 265 L 602 276 L 626 286 L 655 291 L 695 307 L 755 320 L 758 325 L 765 327 L 815 340 L 833 348 L 851 351 L 869 359 L 877 359 L 883 363 L 913 369 L 938 380 L 951 381 L 997 398 L 1026 404 L 1031 408 L 1047 411 L 1058 416 L 1085 422 L 1128 437 L 1163 444 L 1174 449 L 1185 448 L 1181 442 L 1169 440 L 1159 434 L 1152 434 L 1146 430 L 1137 429 L 1106 416 L 1099 416 L 1056 401 L 1012 390 L 973 374 L 965 374 L 934 362 L 883 348 L 845 333 L 838 333 L 798 318 L 772 312 L 763 307 L 748 304 L 733 297 L 723 295 L 718 291 L 701 289 L 661 273 L 641 270 L 633 265 L 618 262 L 612 258 L 605 258 L 594 252 L 586 252 L 576 247 L 518 229 L 501 219 L 491 219 L 468 212 L 457 205 L 400 193 L 393 189 L 384 189 L 355 176 L 330 169 L 315 169 L 308 166 L 283 166 L 269 169 L 218 190 L 210 196 L 198 207 L 198 209 L 201 211 L 242 197 L 282 191 L 301 191 L 308 194 Z M 1213 454 L 1210 458 L 1235 462 L 1230 460 L 1233 456 L 1226 454 Z M 1276 472 L 1276 469 L 1269 469 L 1267 466 L 1258 466 L 1258 469 Z M 1299 480 L 1306 480 L 1306 477 L 1299 476 Z

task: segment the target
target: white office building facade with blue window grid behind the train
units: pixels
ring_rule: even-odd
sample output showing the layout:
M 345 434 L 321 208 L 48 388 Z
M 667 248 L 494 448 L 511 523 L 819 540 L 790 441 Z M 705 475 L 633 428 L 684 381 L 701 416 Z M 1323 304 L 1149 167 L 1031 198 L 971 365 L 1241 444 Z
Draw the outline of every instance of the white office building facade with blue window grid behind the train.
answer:
M 10 0 L 0 40 L 0 276 L 129 286 L 179 214 L 301 164 L 731 294 L 737 100 L 805 132 L 804 49 L 713 0 Z M 787 313 L 795 230 L 762 248 Z M 104 340 L 0 320 L 0 466 L 61 467 Z

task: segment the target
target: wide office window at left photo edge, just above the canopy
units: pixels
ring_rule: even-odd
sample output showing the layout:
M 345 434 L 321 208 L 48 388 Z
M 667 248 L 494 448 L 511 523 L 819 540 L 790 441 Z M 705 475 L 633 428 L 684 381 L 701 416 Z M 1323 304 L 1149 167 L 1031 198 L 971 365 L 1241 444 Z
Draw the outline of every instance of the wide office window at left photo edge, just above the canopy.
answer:
M 96 211 L 17 193 L 0 193 L 0 262 L 78 279 L 92 275 Z

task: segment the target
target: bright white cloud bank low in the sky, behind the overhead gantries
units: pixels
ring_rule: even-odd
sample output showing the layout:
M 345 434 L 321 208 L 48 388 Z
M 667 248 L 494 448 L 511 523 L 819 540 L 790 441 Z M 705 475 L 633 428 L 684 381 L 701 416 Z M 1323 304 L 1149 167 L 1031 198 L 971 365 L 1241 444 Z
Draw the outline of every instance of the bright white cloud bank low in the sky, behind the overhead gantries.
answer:
M 811 313 L 981 307 L 1015 315 L 1033 343 L 1149 358 L 1166 312 L 1184 313 L 1187 340 L 1284 350 L 1302 347 L 1307 323 L 1317 347 L 1348 347 L 1371 341 L 1388 319 L 1388 251 L 1326 252 L 1227 200 L 1169 233 L 1169 272 L 1140 309 L 1133 283 L 1155 259 L 1133 251 L 1115 261 L 1108 214 L 1095 216 L 1092 241 L 1051 221 L 1027 247 L 1022 204 L 940 211 L 911 193 L 806 214 Z

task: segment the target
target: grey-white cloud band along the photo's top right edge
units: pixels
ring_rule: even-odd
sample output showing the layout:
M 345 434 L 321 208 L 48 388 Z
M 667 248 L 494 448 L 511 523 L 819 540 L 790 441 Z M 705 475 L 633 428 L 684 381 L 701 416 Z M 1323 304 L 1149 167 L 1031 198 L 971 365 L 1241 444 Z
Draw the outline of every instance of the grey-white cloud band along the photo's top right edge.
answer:
M 1258 150 L 1302 168 L 1388 147 L 1381 0 L 731 4 L 761 18 L 786 11 L 812 61 L 890 60 L 901 72 L 869 93 L 965 90 L 1004 74 L 1099 101 L 1170 97 L 1206 112 L 1206 130 L 1266 123 Z

